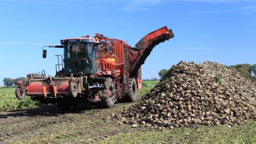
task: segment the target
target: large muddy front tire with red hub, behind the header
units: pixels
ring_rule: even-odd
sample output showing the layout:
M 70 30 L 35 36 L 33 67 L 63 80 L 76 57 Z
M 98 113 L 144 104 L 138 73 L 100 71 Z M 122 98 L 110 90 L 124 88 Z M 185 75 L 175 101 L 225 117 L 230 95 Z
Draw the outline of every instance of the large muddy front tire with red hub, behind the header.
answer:
M 98 103 L 98 108 L 113 108 L 116 102 L 115 85 L 112 78 L 106 78 L 106 89 L 102 90 L 103 99 Z

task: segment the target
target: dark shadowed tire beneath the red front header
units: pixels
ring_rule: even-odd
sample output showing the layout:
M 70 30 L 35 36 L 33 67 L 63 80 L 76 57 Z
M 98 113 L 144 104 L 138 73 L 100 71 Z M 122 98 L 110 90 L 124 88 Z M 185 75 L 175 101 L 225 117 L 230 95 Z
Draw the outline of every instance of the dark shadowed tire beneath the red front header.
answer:
M 77 102 L 72 102 L 68 99 L 64 100 L 58 100 L 57 101 L 57 107 L 61 111 L 67 111 L 67 110 L 75 110 L 77 108 L 78 103 Z

